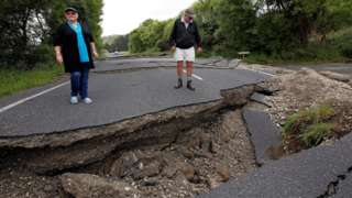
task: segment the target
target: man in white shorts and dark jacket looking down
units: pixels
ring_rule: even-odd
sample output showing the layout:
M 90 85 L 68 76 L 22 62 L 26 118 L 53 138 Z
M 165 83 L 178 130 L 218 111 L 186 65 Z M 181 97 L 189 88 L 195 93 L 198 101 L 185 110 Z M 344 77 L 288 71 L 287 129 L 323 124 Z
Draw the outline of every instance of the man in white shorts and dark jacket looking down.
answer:
M 173 33 L 169 38 L 172 51 L 175 53 L 175 59 L 177 62 L 177 85 L 175 89 L 183 87 L 183 73 L 184 62 L 187 65 L 187 88 L 195 91 L 191 86 L 191 76 L 194 73 L 194 62 L 196 57 L 195 47 L 197 52 L 201 53 L 201 38 L 199 35 L 198 26 L 195 19 L 195 12 L 193 9 L 187 9 L 180 19 L 177 19 Z

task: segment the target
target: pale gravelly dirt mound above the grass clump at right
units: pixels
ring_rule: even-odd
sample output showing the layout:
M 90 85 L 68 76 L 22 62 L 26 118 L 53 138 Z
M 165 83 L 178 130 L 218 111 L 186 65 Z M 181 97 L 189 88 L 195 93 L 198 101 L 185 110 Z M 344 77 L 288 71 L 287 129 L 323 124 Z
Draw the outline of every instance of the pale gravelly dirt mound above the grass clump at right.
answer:
M 267 98 L 272 108 L 267 111 L 274 120 L 283 125 L 285 119 L 299 110 L 310 107 L 330 106 L 336 111 L 333 121 L 339 133 L 352 131 L 352 87 L 318 74 L 312 69 L 304 68 L 299 72 L 278 76 L 273 79 L 278 91 Z

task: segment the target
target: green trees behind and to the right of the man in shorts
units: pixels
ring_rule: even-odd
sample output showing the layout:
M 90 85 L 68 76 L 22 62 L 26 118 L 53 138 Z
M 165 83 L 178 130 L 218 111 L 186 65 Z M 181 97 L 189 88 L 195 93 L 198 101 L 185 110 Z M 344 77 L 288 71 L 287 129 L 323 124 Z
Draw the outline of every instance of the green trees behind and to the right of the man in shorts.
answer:
M 341 55 L 352 54 L 351 42 L 337 45 L 327 38 L 351 26 L 352 1 L 198 0 L 193 8 L 207 55 L 237 57 L 239 51 L 250 51 L 261 59 L 311 62 L 340 61 Z M 174 20 L 166 22 L 163 38 L 157 41 L 155 37 L 161 34 L 155 30 L 163 25 L 143 23 L 132 32 L 130 50 L 135 53 L 167 48 L 160 46 L 166 43 Z

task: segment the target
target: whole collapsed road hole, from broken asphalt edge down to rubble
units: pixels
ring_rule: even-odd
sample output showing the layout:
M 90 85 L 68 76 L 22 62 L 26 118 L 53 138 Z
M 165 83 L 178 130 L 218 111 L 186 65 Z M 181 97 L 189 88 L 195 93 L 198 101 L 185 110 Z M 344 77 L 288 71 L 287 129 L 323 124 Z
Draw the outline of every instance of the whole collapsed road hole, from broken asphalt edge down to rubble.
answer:
M 194 197 L 255 169 L 241 108 L 223 99 L 52 135 L 1 140 L 4 197 Z

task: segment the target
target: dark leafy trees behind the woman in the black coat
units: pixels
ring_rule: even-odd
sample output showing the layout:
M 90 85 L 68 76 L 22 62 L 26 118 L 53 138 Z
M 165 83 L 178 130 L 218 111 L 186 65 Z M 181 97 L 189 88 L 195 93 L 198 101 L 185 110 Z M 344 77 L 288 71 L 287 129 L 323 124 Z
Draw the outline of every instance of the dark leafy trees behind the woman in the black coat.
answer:
M 52 35 L 64 22 L 63 10 L 75 6 L 101 47 L 102 0 L 2 0 L 0 2 L 0 67 L 31 69 L 53 59 Z

